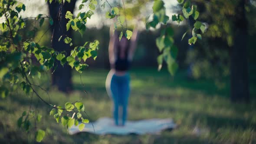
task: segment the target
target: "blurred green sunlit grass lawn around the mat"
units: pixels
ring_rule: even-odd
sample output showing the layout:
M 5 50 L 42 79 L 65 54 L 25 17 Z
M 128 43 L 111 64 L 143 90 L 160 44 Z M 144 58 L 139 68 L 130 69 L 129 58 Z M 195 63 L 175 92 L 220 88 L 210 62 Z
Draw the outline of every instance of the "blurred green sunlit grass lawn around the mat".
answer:
M 74 92 L 63 94 L 49 87 L 49 77 L 40 81 L 49 89 L 51 103 L 64 105 L 67 101 L 82 98 L 85 111 L 91 121 L 101 117 L 111 117 L 112 102 L 105 91 L 107 70 L 90 69 L 80 75 L 74 72 Z M 188 80 L 184 72 L 171 77 L 166 71 L 136 69 L 131 71 L 131 95 L 129 99 L 129 120 L 147 118 L 173 118 L 178 127 L 161 134 L 146 135 L 104 135 L 82 132 L 67 134 L 66 128 L 57 124 L 49 116 L 51 110 L 36 97 L 23 96 L 23 92 L 13 92 L 0 101 L 0 143 L 35 143 L 33 132 L 26 133 L 17 128 L 16 121 L 23 111 L 36 109 L 43 115 L 38 128 L 46 130 L 43 143 L 78 144 L 253 144 L 256 143 L 256 101 L 253 83 L 250 79 L 250 104 L 233 104 L 229 100 L 229 81 L 219 89 L 210 80 Z M 35 83 L 39 84 L 38 81 Z M 83 90 L 88 92 L 85 94 Z M 46 93 L 38 89 L 46 100 Z

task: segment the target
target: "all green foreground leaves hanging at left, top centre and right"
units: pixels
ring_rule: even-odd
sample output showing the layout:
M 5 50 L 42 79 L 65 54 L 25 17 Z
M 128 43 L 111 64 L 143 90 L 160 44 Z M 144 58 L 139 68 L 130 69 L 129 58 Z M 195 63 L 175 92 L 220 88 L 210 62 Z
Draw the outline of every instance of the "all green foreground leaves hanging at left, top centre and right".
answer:
M 70 3 L 70 0 L 46 0 L 49 3 L 59 3 L 63 5 L 64 3 Z M 194 20 L 197 20 L 199 12 L 197 11 L 196 5 L 191 5 L 190 0 L 177 0 L 182 5 L 181 14 L 173 15 L 172 20 L 181 23 L 184 19 L 188 19 L 189 16 L 193 16 Z M 70 11 L 65 13 L 65 18 L 68 20 L 66 24 L 66 29 L 72 29 L 78 31 L 81 36 L 85 33 L 87 20 L 91 18 L 94 14 L 98 2 L 97 0 L 82 0 L 79 5 L 79 10 L 84 7 L 88 7 L 89 10 L 78 13 L 74 16 Z M 109 3 L 108 3 L 109 4 Z M 124 28 L 124 23 L 126 16 L 124 14 L 124 9 L 120 7 L 112 7 L 106 13 L 106 17 L 109 19 L 116 18 L 115 29 L 121 26 L 122 32 L 119 36 L 121 40 L 122 36 L 125 35 L 127 39 L 131 39 L 132 31 Z M 105 7 L 105 3 L 102 4 Z M 17 88 L 22 89 L 26 95 L 31 97 L 36 95 L 41 101 L 52 108 L 49 112 L 56 122 L 61 121 L 62 125 L 66 128 L 71 128 L 72 125 L 79 125 L 79 129 L 82 130 L 85 124 L 89 122 L 88 119 L 82 117 L 82 112 L 85 112 L 85 107 L 80 101 L 75 101 L 73 103 L 66 102 L 65 106 L 52 105 L 36 92 L 35 86 L 30 79 L 38 77 L 40 79 L 42 72 L 47 72 L 51 69 L 56 69 L 57 66 L 63 66 L 68 64 L 71 68 L 75 68 L 80 74 L 88 66 L 86 60 L 88 58 L 97 58 L 97 50 L 99 46 L 99 41 L 95 40 L 93 42 L 85 42 L 83 46 L 73 46 L 72 38 L 63 34 L 59 37 L 59 41 L 63 41 L 66 45 L 69 45 L 71 54 L 68 56 L 65 51 L 56 51 L 51 47 L 40 46 L 38 42 L 34 41 L 34 38 L 23 39 L 20 30 L 23 29 L 27 22 L 22 18 L 20 12 L 26 10 L 26 6 L 23 3 L 18 3 L 16 0 L 0 0 L 0 17 L 3 17 L 5 21 L 0 23 L 0 95 L 5 98 L 10 92 L 16 90 Z M 158 56 L 159 70 L 163 61 L 167 63 L 168 71 L 174 75 L 178 65 L 175 62 L 177 57 L 177 47 L 174 45 L 173 39 L 173 29 L 167 26 L 167 21 L 169 16 L 166 15 L 164 1 L 154 0 L 153 4 L 153 20 L 146 23 L 146 29 L 156 28 L 158 24 L 165 25 L 161 29 L 161 35 L 156 39 L 156 45 L 158 46 L 161 55 Z M 59 15 L 63 14 L 60 13 Z M 35 21 L 42 26 L 45 19 L 49 19 L 49 24 L 53 26 L 53 19 L 49 16 L 44 16 L 39 14 Z M 115 30 L 114 29 L 114 30 Z M 201 39 L 201 35 L 196 33 L 200 29 L 203 33 L 206 26 L 197 21 L 193 29 L 193 37 L 189 39 L 189 43 L 196 43 L 197 39 Z M 37 30 L 36 25 L 33 29 L 34 33 Z M 33 33 L 33 32 L 28 32 Z M 185 34 L 184 34 L 185 35 Z M 183 36 L 184 37 L 184 36 Z M 57 62 L 61 65 L 57 65 Z M 71 114 L 71 115 L 70 115 Z M 40 142 L 45 136 L 45 131 L 33 128 L 33 123 L 30 121 L 31 118 L 35 118 L 37 122 L 40 122 L 42 115 L 36 114 L 33 110 L 24 111 L 22 116 L 17 120 L 17 125 L 19 128 L 23 128 L 25 131 L 35 131 L 35 139 Z

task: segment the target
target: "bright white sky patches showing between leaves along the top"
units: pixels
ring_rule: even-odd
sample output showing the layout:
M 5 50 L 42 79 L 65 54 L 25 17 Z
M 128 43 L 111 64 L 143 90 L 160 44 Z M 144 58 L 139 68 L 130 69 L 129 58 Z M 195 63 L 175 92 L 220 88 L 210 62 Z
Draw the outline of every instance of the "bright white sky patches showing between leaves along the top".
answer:
M 45 0 L 17 0 L 20 1 L 22 3 L 25 4 L 26 6 L 26 11 L 24 13 L 21 13 L 21 15 L 23 16 L 23 18 L 25 17 L 36 17 L 38 14 L 48 14 L 48 6 L 45 2 Z M 113 3 L 114 0 L 108 0 L 108 2 L 111 4 Z M 173 12 L 171 11 L 171 7 L 177 5 L 177 0 L 163 0 L 165 3 L 165 7 L 166 9 L 166 13 L 169 17 L 171 17 L 171 15 L 173 14 Z M 78 7 L 81 4 L 82 0 L 77 0 L 76 2 L 76 8 L 74 11 L 74 15 L 77 15 L 79 13 Z M 98 0 L 98 6 L 97 8 L 100 9 L 102 3 L 104 2 L 104 0 Z M 148 15 L 150 15 L 152 13 L 152 5 L 153 3 L 149 4 L 149 9 L 147 10 Z M 80 11 L 85 11 L 86 9 L 82 9 Z M 95 14 L 91 17 L 90 20 L 88 20 L 86 26 L 88 27 L 97 27 L 100 28 L 103 26 L 103 22 L 106 24 L 111 23 L 110 20 L 107 20 L 105 18 L 105 11 L 108 10 L 108 5 L 105 4 L 105 9 L 103 10 L 104 14 L 102 13 L 98 13 L 95 11 Z M 146 16 L 145 16 L 146 17 Z

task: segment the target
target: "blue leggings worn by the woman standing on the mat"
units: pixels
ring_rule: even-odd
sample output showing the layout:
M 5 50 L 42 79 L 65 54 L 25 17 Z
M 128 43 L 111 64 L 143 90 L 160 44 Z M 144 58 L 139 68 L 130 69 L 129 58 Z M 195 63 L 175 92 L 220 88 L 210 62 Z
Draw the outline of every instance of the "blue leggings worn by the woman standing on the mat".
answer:
M 115 124 L 118 125 L 118 115 L 119 107 L 121 107 L 121 120 L 122 125 L 125 125 L 127 118 L 127 105 L 128 98 L 130 95 L 130 75 L 126 73 L 125 75 L 118 76 L 114 72 L 110 71 L 106 80 L 106 89 L 108 95 L 112 98 L 114 103 L 113 107 L 113 117 Z

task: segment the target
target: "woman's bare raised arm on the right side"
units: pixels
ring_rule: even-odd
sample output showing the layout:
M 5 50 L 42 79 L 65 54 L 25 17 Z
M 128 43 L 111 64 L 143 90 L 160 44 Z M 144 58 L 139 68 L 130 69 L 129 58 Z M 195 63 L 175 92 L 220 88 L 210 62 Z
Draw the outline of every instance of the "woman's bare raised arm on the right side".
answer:
M 131 36 L 131 45 L 130 45 L 129 53 L 128 53 L 129 60 L 133 59 L 137 41 L 138 41 L 138 27 L 135 26 L 135 28 L 133 29 L 133 32 L 132 32 L 132 36 Z

